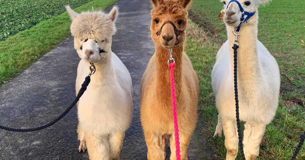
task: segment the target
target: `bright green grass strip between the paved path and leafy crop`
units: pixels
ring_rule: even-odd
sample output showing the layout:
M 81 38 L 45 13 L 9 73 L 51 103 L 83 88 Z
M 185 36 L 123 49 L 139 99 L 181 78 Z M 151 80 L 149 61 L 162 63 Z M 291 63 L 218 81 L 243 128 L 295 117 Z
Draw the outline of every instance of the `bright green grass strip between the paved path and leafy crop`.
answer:
M 75 9 L 76 12 L 106 9 L 117 0 L 95 0 Z M 0 41 L 0 84 L 9 81 L 41 55 L 66 39 L 71 19 L 67 12 Z

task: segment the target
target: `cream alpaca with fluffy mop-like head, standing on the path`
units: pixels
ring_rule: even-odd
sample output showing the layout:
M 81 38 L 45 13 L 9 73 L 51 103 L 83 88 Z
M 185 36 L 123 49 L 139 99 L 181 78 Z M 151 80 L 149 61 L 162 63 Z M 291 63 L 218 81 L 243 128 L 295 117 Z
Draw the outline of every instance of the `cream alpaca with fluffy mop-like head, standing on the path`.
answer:
M 108 15 L 102 11 L 77 14 L 69 6 L 66 9 L 72 19 L 74 48 L 81 58 L 76 92 L 90 71 L 90 62 L 96 67 L 86 92 L 77 103 L 79 151 L 88 148 L 91 160 L 119 160 L 133 107 L 130 73 L 111 51 L 117 7 Z

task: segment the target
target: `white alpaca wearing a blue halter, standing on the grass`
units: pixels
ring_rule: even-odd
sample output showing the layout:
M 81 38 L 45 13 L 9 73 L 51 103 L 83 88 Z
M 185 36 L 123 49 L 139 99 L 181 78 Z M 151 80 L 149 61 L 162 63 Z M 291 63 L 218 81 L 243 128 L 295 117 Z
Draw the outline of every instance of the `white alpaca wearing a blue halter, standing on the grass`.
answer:
M 228 41 L 217 53 L 212 71 L 212 86 L 218 109 L 218 124 L 214 137 L 221 137 L 222 129 L 227 148 L 227 160 L 236 158 L 238 134 L 235 115 L 235 94 L 233 78 L 233 42 L 236 38 L 232 30 L 240 23 L 242 13 L 236 2 L 224 2 L 224 22 L 227 27 Z M 269 0 L 238 0 L 247 12 L 254 12 L 239 31 L 237 50 L 237 75 L 239 92 L 239 118 L 245 121 L 244 153 L 246 160 L 259 155 L 259 145 L 266 125 L 275 116 L 278 108 L 280 73 L 277 62 L 264 45 L 257 40 L 257 7 Z M 227 9 L 228 7 L 228 9 Z M 246 17 L 246 16 L 245 16 Z

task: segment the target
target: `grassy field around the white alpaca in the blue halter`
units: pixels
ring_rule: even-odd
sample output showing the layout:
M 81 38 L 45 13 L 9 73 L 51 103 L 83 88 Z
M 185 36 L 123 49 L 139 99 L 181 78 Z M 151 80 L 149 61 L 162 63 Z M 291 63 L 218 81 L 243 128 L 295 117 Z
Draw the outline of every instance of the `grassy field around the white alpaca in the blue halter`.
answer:
M 305 130 L 305 18 L 301 5 L 297 0 L 273 0 L 259 8 L 258 38 L 277 59 L 282 81 L 279 108 L 267 126 L 260 160 L 289 160 Z M 218 0 L 193 0 L 189 16 L 195 23 L 190 22 L 186 44 L 200 81 L 199 123 L 204 127 L 199 134 L 210 138 L 217 159 L 225 159 L 226 150 L 224 138 L 213 139 L 217 109 L 210 75 L 216 53 L 227 38 L 224 22 L 218 20 L 222 8 Z M 305 159 L 304 146 L 298 158 Z

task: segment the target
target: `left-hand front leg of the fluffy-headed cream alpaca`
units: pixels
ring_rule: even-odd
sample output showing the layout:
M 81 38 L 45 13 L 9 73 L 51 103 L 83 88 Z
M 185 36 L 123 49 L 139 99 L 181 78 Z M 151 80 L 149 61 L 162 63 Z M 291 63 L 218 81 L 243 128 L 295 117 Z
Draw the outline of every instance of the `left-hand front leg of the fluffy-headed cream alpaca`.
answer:
M 85 134 L 86 145 L 90 160 L 109 160 L 110 148 L 108 135 L 97 136 L 90 133 Z

